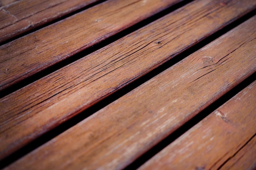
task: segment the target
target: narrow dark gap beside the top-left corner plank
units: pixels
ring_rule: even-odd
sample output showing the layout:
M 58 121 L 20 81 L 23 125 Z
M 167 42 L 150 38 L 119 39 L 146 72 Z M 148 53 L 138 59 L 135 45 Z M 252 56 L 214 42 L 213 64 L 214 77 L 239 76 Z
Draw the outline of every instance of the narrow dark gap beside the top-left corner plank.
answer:
M 18 39 L 18 38 L 20 38 L 20 37 L 23 37 L 23 36 L 25 36 L 25 35 L 27 35 L 27 34 L 30 34 L 30 33 L 34 32 L 34 31 L 37 31 L 37 30 L 39 30 L 39 29 L 42 29 L 42 28 L 45 27 L 45 26 L 49 26 L 49 25 L 54 24 L 54 23 L 56 23 L 56 22 L 58 22 L 58 21 L 64 20 L 65 18 L 68 18 L 68 17 L 70 17 L 70 16 L 72 16 L 72 15 L 74 15 L 74 14 L 76 14 L 76 13 L 79 13 L 79 12 L 84 11 L 84 10 L 86 10 L 86 9 L 89 9 L 89 8 L 91 8 L 91 7 L 93 7 L 93 6 L 96 6 L 97 4 L 100 4 L 100 3 L 104 2 L 104 1 L 106 1 L 106 0 L 99 0 L 99 1 L 97 1 L 97 2 L 92 2 L 91 4 L 88 4 L 88 5 L 86 5 L 85 7 L 82 7 L 82 8 L 80 8 L 80 9 L 77 9 L 77 10 L 71 12 L 71 13 L 67 13 L 66 15 L 63 15 L 63 16 L 61 16 L 61 17 L 59 17 L 59 18 L 56 18 L 56 19 L 54 19 L 54 20 L 52 20 L 52 21 L 50 21 L 50 22 L 47 22 L 47 23 L 42 24 L 42 25 L 40 25 L 40 26 L 36 26 L 35 28 L 33 28 L 33 29 L 31 29 L 31 30 L 28 30 L 28 31 L 26 31 L 26 32 L 24 32 L 24 33 L 21 33 L 21 34 L 15 36 L 15 37 L 13 37 L 13 38 L 10 38 L 10 39 L 8 39 L 8 40 L 6 40 L 6 41 L 0 42 L 0 46 L 3 45 L 3 44 L 6 44 L 6 43 L 8 43 L 8 42 L 11 42 L 11 41 L 13 41 L 13 40 L 16 40 L 16 39 Z

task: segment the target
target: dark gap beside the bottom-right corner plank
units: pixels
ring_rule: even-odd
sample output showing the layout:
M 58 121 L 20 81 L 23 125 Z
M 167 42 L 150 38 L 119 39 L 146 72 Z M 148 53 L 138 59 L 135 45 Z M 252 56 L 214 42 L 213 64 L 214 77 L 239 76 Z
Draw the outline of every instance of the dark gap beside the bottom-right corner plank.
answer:
M 166 146 L 171 144 L 175 139 L 183 135 L 186 131 L 188 131 L 190 128 L 198 124 L 202 119 L 210 115 L 214 110 L 219 108 L 221 105 L 225 104 L 229 99 L 234 97 L 238 92 L 242 91 L 244 88 L 249 86 L 252 82 L 254 82 L 256 77 L 256 72 L 253 73 L 251 76 L 247 77 L 243 82 L 238 84 L 236 87 L 232 88 L 229 92 L 227 92 L 225 95 L 217 99 L 215 102 L 213 102 L 210 106 L 202 110 L 198 115 L 187 121 L 184 125 L 182 125 L 180 128 L 175 130 L 171 135 L 160 141 L 157 145 L 155 145 L 153 148 L 148 150 L 146 153 L 141 155 L 138 159 L 136 159 L 134 162 L 132 162 L 129 166 L 124 168 L 124 170 L 135 170 L 139 168 L 141 165 L 143 165 L 146 161 L 148 161 L 150 158 L 152 158 L 154 155 L 156 155 L 158 152 L 160 152 L 162 149 L 164 149 Z

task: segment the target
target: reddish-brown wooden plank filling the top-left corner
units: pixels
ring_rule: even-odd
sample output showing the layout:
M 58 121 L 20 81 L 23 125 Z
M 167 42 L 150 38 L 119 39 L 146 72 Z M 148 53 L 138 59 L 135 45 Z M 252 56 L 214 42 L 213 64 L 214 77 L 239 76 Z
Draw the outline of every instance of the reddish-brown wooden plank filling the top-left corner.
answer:
M 6 5 L 0 8 L 0 43 L 97 1 L 19 0 Z

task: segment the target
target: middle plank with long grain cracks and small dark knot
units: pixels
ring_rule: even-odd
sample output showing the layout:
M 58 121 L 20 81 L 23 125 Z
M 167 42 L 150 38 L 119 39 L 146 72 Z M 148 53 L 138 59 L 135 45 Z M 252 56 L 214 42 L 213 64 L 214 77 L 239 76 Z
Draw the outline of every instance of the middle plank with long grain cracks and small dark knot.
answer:
M 239 2 L 233 0 L 226 7 L 219 1 L 192 2 L 3 97 L 0 158 L 196 44 L 256 4 L 254 0 Z

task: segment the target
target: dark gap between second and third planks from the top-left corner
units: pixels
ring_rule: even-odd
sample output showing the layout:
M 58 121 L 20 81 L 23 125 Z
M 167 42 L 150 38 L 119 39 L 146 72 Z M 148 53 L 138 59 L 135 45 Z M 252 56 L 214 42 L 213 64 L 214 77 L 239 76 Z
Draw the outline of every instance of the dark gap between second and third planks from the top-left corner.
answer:
M 153 22 L 159 18 L 162 18 L 164 15 L 171 13 L 172 11 L 188 4 L 191 1 L 193 1 L 193 0 L 187 0 L 187 1 L 185 0 L 185 1 L 179 2 L 177 4 L 174 4 L 173 6 L 167 8 L 163 11 L 160 11 L 159 13 L 157 13 L 141 22 L 138 22 L 137 24 L 130 26 L 129 28 L 111 36 L 110 38 L 107 38 L 106 40 L 103 40 L 102 42 L 99 42 L 98 44 L 95 44 L 95 45 L 89 47 L 88 49 L 85 49 L 84 51 L 76 53 L 75 55 L 73 55 L 61 62 L 58 62 L 57 64 L 54 64 L 53 66 L 50 66 L 50 67 L 46 68 L 45 70 L 40 71 L 39 73 L 31 75 L 30 77 L 28 77 L 24 80 L 21 80 L 20 82 L 17 82 L 16 84 L 9 86 L 8 88 L 1 91 L 0 98 L 13 93 L 14 91 L 17 91 L 18 89 L 20 89 L 24 86 L 27 86 L 28 84 L 31 84 L 32 82 L 35 82 L 36 80 L 66 66 L 68 64 L 71 64 L 72 62 L 75 62 L 76 60 L 79 60 L 79 59 L 85 57 L 86 55 L 101 49 L 104 46 L 107 46 L 108 44 L 111 44 L 112 42 L 115 42 L 116 40 L 140 29 L 143 26 L 146 26 L 147 24 L 150 24 L 151 22 Z M 45 25 L 45 26 L 47 26 L 47 25 Z

